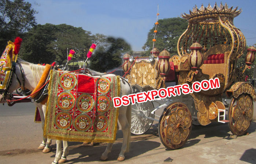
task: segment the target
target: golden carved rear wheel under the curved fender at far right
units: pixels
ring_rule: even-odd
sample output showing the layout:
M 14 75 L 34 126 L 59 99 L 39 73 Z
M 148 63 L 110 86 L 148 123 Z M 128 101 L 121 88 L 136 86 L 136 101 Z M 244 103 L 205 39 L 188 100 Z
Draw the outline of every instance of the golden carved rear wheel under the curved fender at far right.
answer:
M 237 136 L 245 134 L 253 116 L 253 102 L 249 95 L 241 94 L 232 98 L 229 105 L 229 128 Z

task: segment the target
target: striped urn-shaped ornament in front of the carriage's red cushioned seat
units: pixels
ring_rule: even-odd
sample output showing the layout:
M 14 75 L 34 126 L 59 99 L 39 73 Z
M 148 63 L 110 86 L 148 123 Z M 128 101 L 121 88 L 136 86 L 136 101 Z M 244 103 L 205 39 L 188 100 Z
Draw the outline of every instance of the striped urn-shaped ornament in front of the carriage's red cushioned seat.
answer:
M 192 69 L 199 69 L 203 64 L 203 55 L 201 54 L 200 50 L 202 49 L 201 44 L 193 43 L 190 46 L 190 54 L 188 57 L 189 65 Z

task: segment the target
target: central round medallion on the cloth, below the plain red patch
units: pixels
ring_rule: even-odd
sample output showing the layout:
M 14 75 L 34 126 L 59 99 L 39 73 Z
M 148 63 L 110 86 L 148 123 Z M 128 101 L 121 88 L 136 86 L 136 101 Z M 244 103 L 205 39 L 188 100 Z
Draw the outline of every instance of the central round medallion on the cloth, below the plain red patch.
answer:
M 81 94 L 77 99 L 77 108 L 80 112 L 89 112 L 93 109 L 93 97 L 88 93 Z

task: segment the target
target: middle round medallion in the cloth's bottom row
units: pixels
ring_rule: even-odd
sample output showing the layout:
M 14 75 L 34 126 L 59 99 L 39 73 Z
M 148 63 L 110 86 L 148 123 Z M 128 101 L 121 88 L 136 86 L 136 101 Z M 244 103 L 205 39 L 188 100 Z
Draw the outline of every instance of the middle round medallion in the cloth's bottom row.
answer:
M 92 127 L 92 119 L 86 114 L 80 114 L 74 120 L 74 127 L 77 131 L 86 131 Z

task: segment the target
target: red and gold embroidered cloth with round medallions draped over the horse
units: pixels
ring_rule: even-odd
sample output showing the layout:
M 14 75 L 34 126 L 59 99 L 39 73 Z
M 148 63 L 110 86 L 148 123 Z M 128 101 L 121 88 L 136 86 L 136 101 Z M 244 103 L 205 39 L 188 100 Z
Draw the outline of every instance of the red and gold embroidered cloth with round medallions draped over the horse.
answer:
M 51 71 L 44 135 L 67 141 L 114 142 L 119 77 Z

